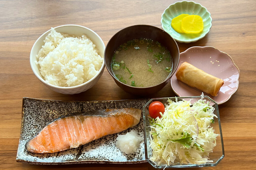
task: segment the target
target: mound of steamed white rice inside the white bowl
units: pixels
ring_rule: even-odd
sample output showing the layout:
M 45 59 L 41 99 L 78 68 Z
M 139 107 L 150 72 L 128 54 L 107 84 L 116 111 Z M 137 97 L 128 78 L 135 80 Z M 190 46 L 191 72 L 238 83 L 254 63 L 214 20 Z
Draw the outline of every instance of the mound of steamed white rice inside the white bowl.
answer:
M 51 28 L 44 43 L 36 63 L 47 83 L 76 86 L 94 77 L 102 66 L 103 58 L 86 35 L 74 37 Z

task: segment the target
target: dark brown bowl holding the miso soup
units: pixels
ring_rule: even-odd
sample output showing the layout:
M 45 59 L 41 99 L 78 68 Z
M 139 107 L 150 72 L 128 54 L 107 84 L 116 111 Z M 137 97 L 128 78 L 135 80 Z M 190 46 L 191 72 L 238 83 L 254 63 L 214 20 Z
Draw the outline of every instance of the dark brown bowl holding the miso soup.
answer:
M 115 50 L 123 43 L 133 40 L 134 38 L 149 38 L 158 41 L 165 46 L 173 59 L 173 69 L 168 77 L 161 83 L 150 87 L 133 87 L 120 82 L 114 76 L 111 70 L 111 60 Z M 145 96 L 156 93 L 161 90 L 169 81 L 179 64 L 179 47 L 175 40 L 164 30 L 151 25 L 133 25 L 122 29 L 116 33 L 108 42 L 104 52 L 104 62 L 110 75 L 113 77 L 115 83 L 127 93 L 134 95 Z

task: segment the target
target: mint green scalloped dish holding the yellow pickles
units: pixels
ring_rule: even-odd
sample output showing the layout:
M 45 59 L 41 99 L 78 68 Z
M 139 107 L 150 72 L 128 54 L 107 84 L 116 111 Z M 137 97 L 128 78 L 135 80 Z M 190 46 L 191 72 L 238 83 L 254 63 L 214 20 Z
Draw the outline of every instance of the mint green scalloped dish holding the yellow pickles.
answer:
M 204 30 L 198 34 L 186 34 L 176 32 L 172 26 L 172 19 L 180 14 L 199 15 L 204 22 Z M 196 42 L 205 37 L 211 29 L 211 14 L 201 4 L 193 1 L 176 2 L 164 10 L 161 18 L 162 28 L 180 43 Z

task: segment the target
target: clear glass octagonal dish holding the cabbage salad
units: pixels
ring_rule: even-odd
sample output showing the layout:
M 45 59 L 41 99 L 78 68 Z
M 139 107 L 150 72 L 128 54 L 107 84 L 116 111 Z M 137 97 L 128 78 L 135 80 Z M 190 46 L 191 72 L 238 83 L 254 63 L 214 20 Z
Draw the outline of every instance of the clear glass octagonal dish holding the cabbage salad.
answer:
M 144 106 L 143 106 L 143 126 L 144 126 L 144 142 L 145 142 L 145 158 L 146 160 L 155 168 L 180 168 L 180 167 L 209 167 L 209 166 L 216 166 L 223 158 L 224 158 L 224 146 L 223 146 L 223 138 L 221 132 L 221 125 L 220 125 L 220 117 L 219 117 L 219 109 L 218 104 L 212 100 L 208 96 L 204 96 L 207 102 L 210 102 L 209 105 L 214 107 L 214 114 L 218 117 L 214 117 L 214 123 L 211 123 L 211 127 L 215 130 L 215 134 L 219 134 L 216 138 L 217 145 L 214 147 L 213 152 L 209 153 L 209 160 L 213 162 L 205 163 L 205 164 L 181 164 L 180 162 L 173 163 L 170 166 L 166 166 L 166 164 L 158 165 L 157 162 L 150 160 L 152 156 L 152 148 L 150 147 L 150 116 L 148 112 L 148 107 L 150 103 L 154 101 L 160 101 L 163 104 L 167 104 L 167 100 L 170 99 L 172 101 L 180 100 L 187 100 L 194 103 L 195 101 L 199 100 L 201 96 L 194 96 L 194 97 L 170 97 L 170 98 L 153 98 L 150 99 Z

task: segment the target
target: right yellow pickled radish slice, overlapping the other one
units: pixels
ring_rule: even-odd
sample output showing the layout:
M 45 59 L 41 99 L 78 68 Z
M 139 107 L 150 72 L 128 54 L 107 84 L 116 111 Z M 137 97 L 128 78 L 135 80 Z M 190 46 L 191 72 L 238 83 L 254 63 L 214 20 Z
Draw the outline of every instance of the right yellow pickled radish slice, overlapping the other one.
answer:
M 189 15 L 182 19 L 181 30 L 187 34 L 197 34 L 204 29 L 203 19 L 199 15 Z

